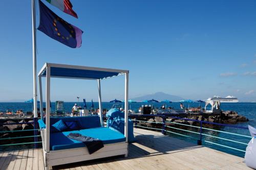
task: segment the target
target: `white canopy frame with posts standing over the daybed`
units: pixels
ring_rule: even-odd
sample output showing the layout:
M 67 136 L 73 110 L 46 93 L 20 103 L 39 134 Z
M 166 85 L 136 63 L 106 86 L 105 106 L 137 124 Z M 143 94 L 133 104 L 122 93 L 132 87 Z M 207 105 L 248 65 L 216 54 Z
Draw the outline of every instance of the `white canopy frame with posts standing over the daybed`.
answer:
M 40 113 L 41 118 L 43 117 L 43 106 L 42 106 L 42 83 L 41 78 L 46 77 L 46 153 L 50 152 L 50 78 L 67 78 L 67 79 L 89 79 L 89 80 L 97 80 L 98 82 L 98 96 L 99 96 L 99 113 L 100 123 L 103 125 L 102 120 L 102 105 L 101 105 L 101 87 L 100 80 L 111 78 L 104 77 L 101 79 L 96 78 L 84 78 L 84 77 L 65 77 L 65 76 L 51 76 L 51 67 L 58 68 L 69 68 L 69 69 L 80 69 L 80 70 L 92 70 L 92 71 L 104 71 L 104 72 L 118 72 L 117 76 L 125 75 L 125 106 L 124 106 L 124 136 L 125 141 L 128 142 L 128 91 L 129 91 L 129 70 L 120 70 L 120 69 L 110 69 L 110 68 L 99 68 L 99 67 L 88 67 L 88 66 L 77 66 L 77 65 L 66 65 L 66 64 L 54 64 L 54 63 L 45 63 L 42 66 L 41 70 L 38 73 L 39 79 L 39 100 L 40 100 Z M 46 74 L 44 75 L 44 73 Z M 112 76 L 116 77 L 116 76 Z

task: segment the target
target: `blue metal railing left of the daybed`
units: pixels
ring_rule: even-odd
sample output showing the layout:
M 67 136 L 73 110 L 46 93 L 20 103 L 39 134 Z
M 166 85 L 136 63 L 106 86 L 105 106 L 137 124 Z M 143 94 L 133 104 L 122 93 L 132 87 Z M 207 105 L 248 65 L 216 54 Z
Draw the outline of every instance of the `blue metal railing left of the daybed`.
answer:
M 31 120 L 31 118 L 23 118 L 23 120 L 26 120 L 26 119 Z M 8 147 L 8 146 L 13 146 L 13 145 L 23 145 L 23 144 L 34 144 L 34 148 L 38 148 L 38 143 L 41 143 L 41 141 L 38 141 L 38 137 L 40 137 L 41 135 L 39 134 L 39 129 L 38 129 L 39 126 L 38 126 L 38 123 L 37 123 L 37 117 L 33 118 L 33 122 L 2 123 L 2 124 L 0 124 L 0 126 L 4 126 L 4 125 L 23 125 L 23 124 L 33 125 L 33 129 L 0 131 L 0 134 L 2 134 L 2 133 L 16 133 L 16 132 L 22 133 L 22 132 L 33 131 L 34 132 L 33 135 L 0 138 L 0 142 L 3 141 L 3 140 L 15 140 L 15 139 L 32 138 L 32 137 L 34 138 L 34 141 L 31 141 L 31 142 L 19 142 L 19 143 L 9 143 L 9 144 L 0 144 L 0 147 Z

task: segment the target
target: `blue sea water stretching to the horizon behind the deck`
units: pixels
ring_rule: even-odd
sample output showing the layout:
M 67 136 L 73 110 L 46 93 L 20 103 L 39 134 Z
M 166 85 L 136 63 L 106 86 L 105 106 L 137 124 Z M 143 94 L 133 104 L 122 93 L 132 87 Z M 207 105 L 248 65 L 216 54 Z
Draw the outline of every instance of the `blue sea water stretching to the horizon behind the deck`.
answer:
M 74 106 L 74 104 L 77 102 L 65 102 L 64 103 L 64 107 L 65 107 L 65 111 L 66 112 L 71 112 L 72 107 Z M 77 103 L 79 106 L 83 107 L 83 103 Z M 86 103 L 87 104 L 87 108 L 91 108 L 91 102 Z M 51 110 L 55 110 L 55 103 L 52 102 L 51 103 L 52 108 Z M 110 109 L 112 107 L 113 103 L 109 103 L 109 102 L 103 102 L 102 103 L 102 108 L 105 109 Z M 119 105 L 124 108 L 124 103 L 119 103 Z M 129 103 L 129 109 L 132 109 L 134 111 L 138 111 L 138 108 L 141 107 L 141 105 L 153 105 L 154 107 L 158 107 L 160 108 L 163 103 L 152 103 L 152 104 L 147 104 L 147 103 Z M 174 103 L 168 103 L 166 104 L 167 107 L 174 107 L 175 109 L 180 109 L 180 103 L 179 102 L 174 102 Z M 188 107 L 204 107 L 204 103 L 183 103 L 183 105 L 188 108 Z M 38 104 L 39 106 L 39 104 Z M 44 103 L 45 106 L 45 103 Z M 33 107 L 33 103 L 0 103 L 0 111 L 16 111 L 18 109 L 22 109 L 23 111 L 31 111 Z M 94 108 L 98 108 L 98 103 L 95 102 L 94 103 Z M 248 125 L 251 125 L 253 127 L 256 127 L 256 103 L 221 103 L 221 109 L 222 110 L 232 110 L 232 111 L 236 111 L 238 112 L 239 115 L 243 115 L 246 118 L 249 119 L 248 122 L 241 122 L 236 124 L 235 126 L 242 126 L 242 127 L 248 127 Z M 237 133 L 237 134 L 242 134 L 242 135 L 247 135 L 250 136 L 249 131 L 245 130 L 245 129 L 238 129 L 238 128 L 231 128 L 231 127 L 210 127 L 210 128 L 214 128 L 216 130 L 221 130 L 221 131 L 226 131 L 226 132 L 231 132 L 231 133 Z M 199 129 L 197 128 L 191 128 L 189 130 L 193 130 L 193 131 L 198 131 Z M 175 131 L 175 132 L 179 132 L 185 135 L 189 135 L 189 136 L 193 136 L 198 138 L 199 136 L 197 134 L 192 134 L 189 132 L 184 132 L 184 131 Z M 222 133 L 222 132 L 217 132 L 217 131 L 208 131 L 208 130 L 204 130 L 203 133 L 208 134 L 208 135 L 212 135 L 212 136 L 218 136 L 221 138 L 227 138 L 227 139 L 231 139 L 231 140 L 236 140 L 236 141 L 240 141 L 240 142 L 244 142 L 244 143 L 248 143 L 250 138 L 247 137 L 242 137 L 242 136 L 236 136 L 236 135 L 231 135 L 231 134 L 226 134 L 226 133 Z M 168 135 L 173 136 L 173 137 L 177 137 L 183 140 L 188 140 L 190 142 L 197 142 L 197 140 L 193 140 L 191 138 L 187 138 L 187 137 L 183 137 L 180 135 L 175 135 L 172 133 L 169 133 Z M 240 150 L 244 150 L 246 148 L 246 145 L 244 144 L 240 144 L 240 143 L 236 143 L 236 142 L 231 142 L 231 141 L 226 141 L 223 139 L 219 139 L 219 138 L 214 138 L 214 137 L 209 137 L 209 136 L 203 136 L 203 141 L 207 140 L 207 141 L 211 141 L 211 142 L 215 142 L 215 143 L 219 143 L 222 145 L 228 145 L 229 147 L 232 148 L 236 148 L 236 149 L 240 149 Z M 237 155 L 240 157 L 244 157 L 244 152 L 241 151 L 237 151 L 237 150 L 233 150 L 233 149 L 228 149 L 225 147 L 221 147 L 215 144 L 210 144 L 207 142 L 203 142 L 203 145 L 212 149 L 216 149 L 219 151 L 223 151 L 229 154 L 233 154 L 233 155 Z

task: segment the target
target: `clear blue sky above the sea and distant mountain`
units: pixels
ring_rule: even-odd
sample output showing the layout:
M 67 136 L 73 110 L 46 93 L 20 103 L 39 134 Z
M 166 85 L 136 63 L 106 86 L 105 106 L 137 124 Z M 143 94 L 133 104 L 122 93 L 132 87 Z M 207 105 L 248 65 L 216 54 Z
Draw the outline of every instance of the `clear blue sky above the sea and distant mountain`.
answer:
M 45 62 L 129 69 L 131 98 L 163 91 L 256 101 L 255 1 L 71 2 L 78 19 L 47 5 L 84 31 L 82 46 L 37 31 L 38 70 Z M 31 1 L 6 1 L 0 18 L 0 101 L 32 98 Z M 52 101 L 97 99 L 96 81 L 51 83 Z M 102 81 L 103 101 L 123 95 L 124 77 Z

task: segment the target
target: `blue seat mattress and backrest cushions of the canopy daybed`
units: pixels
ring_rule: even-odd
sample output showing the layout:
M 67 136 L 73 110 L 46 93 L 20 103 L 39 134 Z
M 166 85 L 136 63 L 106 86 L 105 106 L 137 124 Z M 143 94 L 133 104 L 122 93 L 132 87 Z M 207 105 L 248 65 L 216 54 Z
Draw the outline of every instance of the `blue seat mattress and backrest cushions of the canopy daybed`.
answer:
M 112 130 L 110 128 L 101 127 L 100 117 L 84 116 L 84 117 L 51 117 L 50 129 L 53 124 L 62 119 L 63 122 L 77 122 L 80 126 L 79 130 L 51 132 L 50 133 L 50 150 L 65 150 L 72 148 L 86 147 L 83 142 L 73 140 L 67 136 L 70 133 L 80 133 L 83 136 L 90 136 L 102 140 L 103 144 L 111 144 L 118 142 L 125 142 L 125 137 L 122 133 Z M 46 125 L 44 120 L 38 120 L 40 129 L 45 129 Z

